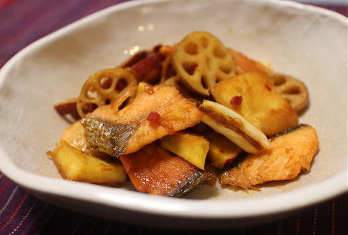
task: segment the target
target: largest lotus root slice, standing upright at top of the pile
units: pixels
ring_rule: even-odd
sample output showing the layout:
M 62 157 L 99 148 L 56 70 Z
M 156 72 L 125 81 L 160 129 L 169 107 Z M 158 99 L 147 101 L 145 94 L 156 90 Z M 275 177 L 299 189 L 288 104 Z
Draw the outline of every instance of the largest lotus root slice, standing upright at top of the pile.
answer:
M 217 82 L 235 75 L 235 61 L 221 41 L 196 31 L 186 36 L 173 53 L 173 66 L 189 87 L 204 96 Z

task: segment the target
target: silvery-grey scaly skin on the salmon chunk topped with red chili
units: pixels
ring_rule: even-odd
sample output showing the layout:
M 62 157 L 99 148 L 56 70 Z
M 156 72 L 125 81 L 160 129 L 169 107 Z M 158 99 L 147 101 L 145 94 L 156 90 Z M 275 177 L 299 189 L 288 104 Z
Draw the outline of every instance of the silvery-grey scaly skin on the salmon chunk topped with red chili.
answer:
M 81 124 L 89 149 L 115 157 L 125 154 L 128 140 L 137 128 L 136 123 L 112 123 L 96 117 L 82 119 Z

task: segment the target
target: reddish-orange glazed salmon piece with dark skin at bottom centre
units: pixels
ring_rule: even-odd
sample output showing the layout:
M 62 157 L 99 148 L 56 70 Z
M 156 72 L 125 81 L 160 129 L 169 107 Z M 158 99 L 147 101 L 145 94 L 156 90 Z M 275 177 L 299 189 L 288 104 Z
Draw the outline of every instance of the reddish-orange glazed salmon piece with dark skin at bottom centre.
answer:
M 136 190 L 151 195 L 181 197 L 211 178 L 209 172 L 156 144 L 120 156 L 120 160 Z

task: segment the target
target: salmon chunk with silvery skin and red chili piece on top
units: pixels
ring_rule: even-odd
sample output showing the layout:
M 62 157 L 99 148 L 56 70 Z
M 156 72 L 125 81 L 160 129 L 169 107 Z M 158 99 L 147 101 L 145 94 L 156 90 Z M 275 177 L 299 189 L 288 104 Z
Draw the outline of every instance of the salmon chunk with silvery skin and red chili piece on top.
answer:
M 121 156 L 194 126 L 202 116 L 200 109 L 174 86 L 157 85 L 140 93 L 120 111 L 111 105 L 98 107 L 81 123 L 90 146 L 111 156 Z

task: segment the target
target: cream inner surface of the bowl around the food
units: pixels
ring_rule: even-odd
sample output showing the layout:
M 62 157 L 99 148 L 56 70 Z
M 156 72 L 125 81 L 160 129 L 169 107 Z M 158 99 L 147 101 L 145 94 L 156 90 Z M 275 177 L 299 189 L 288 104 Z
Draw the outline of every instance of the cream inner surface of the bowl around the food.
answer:
M 347 25 L 335 13 L 283 1 L 131 2 L 40 40 L 1 71 L 0 158 L 24 172 L 59 179 L 45 153 L 54 148 L 68 123 L 53 105 L 78 96 L 89 75 L 118 65 L 137 48 L 173 44 L 198 30 L 305 82 L 310 107 L 300 122 L 317 129 L 320 149 L 311 171 L 294 181 L 269 183 L 260 192 L 205 185 L 187 198 L 272 197 L 346 170 Z M 95 190 L 84 184 L 85 190 L 89 188 Z

